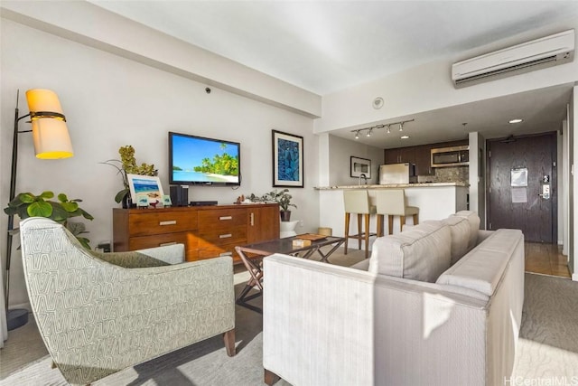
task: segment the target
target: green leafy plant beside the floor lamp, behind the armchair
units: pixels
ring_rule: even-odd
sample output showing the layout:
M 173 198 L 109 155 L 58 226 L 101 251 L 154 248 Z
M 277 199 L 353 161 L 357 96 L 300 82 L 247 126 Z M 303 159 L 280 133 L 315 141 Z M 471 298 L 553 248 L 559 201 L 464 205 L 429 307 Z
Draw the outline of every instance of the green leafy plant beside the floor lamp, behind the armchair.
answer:
M 8 215 L 18 215 L 21 219 L 28 217 L 46 217 L 64 225 L 87 249 L 90 249 L 90 240 L 80 234 L 87 233 L 86 227 L 82 222 L 69 221 L 71 217 L 84 217 L 87 220 L 93 220 L 94 217 L 79 206 L 82 200 L 69 200 L 66 194 L 60 193 L 58 201 L 52 201 L 54 193 L 50 191 L 42 192 L 40 195 L 33 193 L 19 193 L 14 197 L 4 212 Z

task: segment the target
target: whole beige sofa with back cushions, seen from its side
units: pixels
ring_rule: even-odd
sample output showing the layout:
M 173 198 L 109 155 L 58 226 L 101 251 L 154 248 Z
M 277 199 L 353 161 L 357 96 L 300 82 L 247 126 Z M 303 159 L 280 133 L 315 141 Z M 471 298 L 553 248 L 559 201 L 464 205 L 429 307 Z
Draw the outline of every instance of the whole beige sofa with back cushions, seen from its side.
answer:
M 524 237 L 479 224 L 473 212 L 424 221 L 379 238 L 353 268 L 264 259 L 266 383 L 503 384 L 524 302 Z

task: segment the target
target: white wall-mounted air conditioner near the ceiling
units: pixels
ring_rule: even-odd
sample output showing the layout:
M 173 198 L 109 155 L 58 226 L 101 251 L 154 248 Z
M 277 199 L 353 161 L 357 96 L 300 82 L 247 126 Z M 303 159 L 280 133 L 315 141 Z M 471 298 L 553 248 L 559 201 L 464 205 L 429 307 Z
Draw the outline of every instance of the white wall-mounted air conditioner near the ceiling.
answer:
M 456 89 L 573 61 L 574 30 L 452 64 Z

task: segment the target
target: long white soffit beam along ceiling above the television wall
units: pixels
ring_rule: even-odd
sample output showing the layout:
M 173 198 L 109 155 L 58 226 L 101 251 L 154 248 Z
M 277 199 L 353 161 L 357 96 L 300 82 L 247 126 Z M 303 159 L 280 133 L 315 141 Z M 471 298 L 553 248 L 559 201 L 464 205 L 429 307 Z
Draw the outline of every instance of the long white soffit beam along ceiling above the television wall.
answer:
M 9 1 L 2 16 L 42 31 L 209 83 L 247 98 L 321 116 L 321 97 L 86 1 Z

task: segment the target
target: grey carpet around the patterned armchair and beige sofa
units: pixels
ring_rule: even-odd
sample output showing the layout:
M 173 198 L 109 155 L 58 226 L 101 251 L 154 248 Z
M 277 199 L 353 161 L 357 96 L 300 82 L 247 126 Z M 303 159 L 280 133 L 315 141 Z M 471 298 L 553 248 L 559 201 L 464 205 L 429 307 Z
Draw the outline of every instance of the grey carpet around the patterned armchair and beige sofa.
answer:
M 243 287 L 244 284 L 237 284 L 236 291 Z M 260 297 L 253 300 L 256 305 L 260 301 Z M 93 384 L 263 385 L 262 317 L 240 306 L 237 306 L 236 316 L 238 353 L 233 358 L 227 356 L 222 339 L 217 336 Z M 61 373 L 51 370 L 50 364 L 50 357 L 44 356 L 7 375 L 0 385 L 66 385 Z M 533 383 L 527 383 L 530 381 Z M 506 384 L 578 384 L 578 283 L 564 278 L 526 275 L 520 348 L 513 379 Z M 289 384 L 282 380 L 277 385 Z

